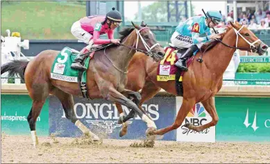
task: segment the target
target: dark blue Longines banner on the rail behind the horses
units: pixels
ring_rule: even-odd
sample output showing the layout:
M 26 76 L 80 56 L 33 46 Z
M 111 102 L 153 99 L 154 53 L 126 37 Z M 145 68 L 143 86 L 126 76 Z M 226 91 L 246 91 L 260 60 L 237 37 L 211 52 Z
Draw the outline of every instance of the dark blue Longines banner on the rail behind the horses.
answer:
M 74 97 L 74 109 L 76 116 L 92 132 L 104 138 L 114 139 L 140 139 L 146 137 L 146 123 L 136 115 L 128 122 L 128 133 L 120 138 L 119 130 L 121 124 L 117 124 L 119 113 L 115 104 L 104 99 L 87 100 Z M 124 113 L 128 114 L 129 109 L 122 106 Z M 142 108 L 153 118 L 158 129 L 169 126 L 174 122 L 176 116 L 175 97 L 154 97 L 146 101 Z M 65 117 L 65 112 L 60 101 L 54 97 L 49 97 L 49 133 L 56 136 L 78 137 L 82 132 Z M 171 131 L 164 135 L 162 140 L 176 140 L 176 131 Z

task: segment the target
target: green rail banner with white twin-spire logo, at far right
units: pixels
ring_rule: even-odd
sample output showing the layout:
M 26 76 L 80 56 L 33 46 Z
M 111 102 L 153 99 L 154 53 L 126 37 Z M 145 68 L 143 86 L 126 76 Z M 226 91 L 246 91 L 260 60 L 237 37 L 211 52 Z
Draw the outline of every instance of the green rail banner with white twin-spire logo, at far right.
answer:
M 215 97 L 217 141 L 270 142 L 270 97 Z

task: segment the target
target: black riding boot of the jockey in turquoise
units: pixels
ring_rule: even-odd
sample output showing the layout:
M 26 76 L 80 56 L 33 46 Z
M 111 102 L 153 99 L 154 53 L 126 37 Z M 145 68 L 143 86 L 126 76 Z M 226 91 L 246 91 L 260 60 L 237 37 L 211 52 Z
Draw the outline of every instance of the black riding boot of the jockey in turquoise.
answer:
M 194 51 L 198 49 L 199 48 L 197 47 L 197 45 L 193 44 L 191 47 L 189 47 L 189 49 L 187 49 L 187 51 L 185 51 L 185 54 L 183 54 L 183 56 L 181 56 L 181 58 L 179 58 L 174 65 L 178 67 L 181 71 L 186 72 L 188 69 L 185 61 L 187 60 L 187 58 L 193 55 Z

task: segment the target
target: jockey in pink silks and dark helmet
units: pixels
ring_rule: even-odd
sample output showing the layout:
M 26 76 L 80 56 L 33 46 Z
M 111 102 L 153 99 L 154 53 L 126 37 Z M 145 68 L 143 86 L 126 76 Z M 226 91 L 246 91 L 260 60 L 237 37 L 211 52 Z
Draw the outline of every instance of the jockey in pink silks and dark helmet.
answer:
M 76 56 L 74 62 L 71 64 L 71 68 L 86 70 L 81 64 L 85 57 L 85 53 L 89 52 L 93 44 L 119 44 L 119 39 L 114 39 L 113 34 L 115 28 L 120 26 L 122 22 L 121 13 L 112 8 L 106 16 L 94 15 L 89 17 L 83 17 L 71 26 L 71 33 L 85 42 L 87 47 L 83 48 Z M 108 39 L 99 39 L 99 35 L 107 33 Z

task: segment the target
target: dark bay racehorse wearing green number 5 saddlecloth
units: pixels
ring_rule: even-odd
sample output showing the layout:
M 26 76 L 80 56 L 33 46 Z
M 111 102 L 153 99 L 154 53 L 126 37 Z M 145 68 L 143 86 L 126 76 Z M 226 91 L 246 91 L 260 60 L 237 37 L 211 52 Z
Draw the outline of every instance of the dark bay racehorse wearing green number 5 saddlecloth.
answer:
M 144 51 L 146 55 L 158 62 L 164 55 L 164 49 L 157 43 L 153 33 L 144 22 L 141 26 L 133 24 L 131 27 L 126 27 L 119 33 L 121 45 L 113 44 L 100 49 L 90 60 L 86 71 L 88 95 L 90 99 L 103 98 L 127 106 L 137 111 L 149 129 L 156 129 L 151 117 L 140 110 L 138 104 L 127 98 L 133 98 L 135 102 L 139 102 L 140 93 L 126 90 L 125 85 L 128 64 L 136 51 Z M 71 120 L 83 134 L 92 137 L 94 141 L 99 141 L 100 138 L 80 122 L 74 113 L 72 95 L 82 96 L 78 83 L 60 81 L 50 77 L 51 65 L 58 54 L 59 51 L 45 50 L 37 54 L 33 60 L 13 60 L 11 63 L 1 66 L 1 74 L 9 72 L 10 76 L 17 74 L 24 79 L 29 96 L 33 100 L 27 117 L 33 145 L 35 147 L 38 144 L 35 123 L 49 94 L 58 97 L 67 119 Z

